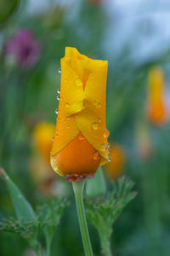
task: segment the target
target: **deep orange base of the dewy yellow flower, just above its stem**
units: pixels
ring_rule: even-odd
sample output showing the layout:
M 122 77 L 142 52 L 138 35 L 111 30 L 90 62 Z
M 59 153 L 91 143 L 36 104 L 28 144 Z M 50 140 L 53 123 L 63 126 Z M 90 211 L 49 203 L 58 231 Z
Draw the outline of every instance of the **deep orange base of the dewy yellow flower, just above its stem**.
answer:
M 51 165 L 55 172 L 65 176 L 67 181 L 73 182 L 94 177 L 100 160 L 99 151 L 96 151 L 80 132 L 71 143 L 51 158 Z

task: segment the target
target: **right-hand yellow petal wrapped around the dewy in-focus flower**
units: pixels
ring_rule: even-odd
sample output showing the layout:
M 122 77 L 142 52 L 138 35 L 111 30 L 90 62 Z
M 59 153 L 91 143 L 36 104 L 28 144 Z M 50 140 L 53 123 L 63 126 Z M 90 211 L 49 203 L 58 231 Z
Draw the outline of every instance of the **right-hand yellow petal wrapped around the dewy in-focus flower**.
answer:
M 77 126 L 88 143 L 103 156 L 101 164 L 108 160 L 108 143 L 105 137 L 105 97 L 107 61 L 98 61 L 98 69 L 91 73 L 84 90 L 85 108 L 77 114 Z

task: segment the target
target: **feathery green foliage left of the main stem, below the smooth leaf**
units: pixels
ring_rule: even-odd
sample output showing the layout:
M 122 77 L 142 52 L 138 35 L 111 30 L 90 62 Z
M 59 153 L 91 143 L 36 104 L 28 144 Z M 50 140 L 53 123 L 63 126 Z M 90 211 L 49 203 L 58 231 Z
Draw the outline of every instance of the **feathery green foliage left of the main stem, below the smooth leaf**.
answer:
M 3 218 L 3 222 L 0 223 L 0 230 L 15 233 L 29 240 L 49 228 L 55 230 L 68 206 L 69 202 L 66 199 L 51 199 L 47 203 L 38 206 L 36 217 L 29 221 L 25 219 L 19 221 L 13 217 Z

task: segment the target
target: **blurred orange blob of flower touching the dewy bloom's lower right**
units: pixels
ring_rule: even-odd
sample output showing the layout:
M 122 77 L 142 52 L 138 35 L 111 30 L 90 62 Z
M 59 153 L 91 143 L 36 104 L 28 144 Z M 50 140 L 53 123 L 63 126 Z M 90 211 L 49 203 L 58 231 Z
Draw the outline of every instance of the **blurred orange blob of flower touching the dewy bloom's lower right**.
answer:
M 105 165 L 105 174 L 108 177 L 117 180 L 123 175 L 126 162 L 125 150 L 119 144 L 111 144 L 110 157 L 111 161 Z

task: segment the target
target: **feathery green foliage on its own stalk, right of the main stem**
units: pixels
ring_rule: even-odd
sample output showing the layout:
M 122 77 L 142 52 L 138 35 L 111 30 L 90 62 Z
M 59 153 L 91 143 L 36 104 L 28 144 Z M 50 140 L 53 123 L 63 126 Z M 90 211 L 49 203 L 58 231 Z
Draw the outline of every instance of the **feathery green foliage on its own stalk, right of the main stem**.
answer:
M 93 224 L 99 232 L 104 254 L 108 254 L 112 224 L 120 216 L 122 209 L 136 196 L 133 182 L 127 177 L 121 177 L 112 183 L 112 190 L 105 198 L 85 199 L 88 222 Z M 106 252 L 106 253 L 105 253 Z

